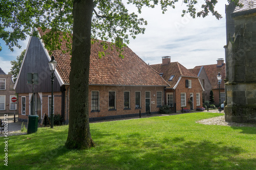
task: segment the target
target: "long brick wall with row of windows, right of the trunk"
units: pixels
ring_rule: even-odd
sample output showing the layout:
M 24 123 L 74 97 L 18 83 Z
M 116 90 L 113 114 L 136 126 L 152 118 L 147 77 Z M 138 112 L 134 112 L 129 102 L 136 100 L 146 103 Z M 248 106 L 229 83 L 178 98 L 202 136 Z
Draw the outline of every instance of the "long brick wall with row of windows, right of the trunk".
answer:
M 99 91 L 100 111 L 91 112 L 91 91 Z M 116 109 L 109 111 L 109 91 L 116 91 Z M 124 110 L 124 91 L 130 91 L 130 110 Z M 135 91 L 141 92 L 141 109 L 135 108 Z M 162 91 L 163 101 L 163 87 L 138 87 L 138 86 L 89 86 L 89 116 L 114 116 L 123 114 L 145 113 L 145 91 L 151 92 L 151 112 L 158 112 L 157 107 L 157 91 Z

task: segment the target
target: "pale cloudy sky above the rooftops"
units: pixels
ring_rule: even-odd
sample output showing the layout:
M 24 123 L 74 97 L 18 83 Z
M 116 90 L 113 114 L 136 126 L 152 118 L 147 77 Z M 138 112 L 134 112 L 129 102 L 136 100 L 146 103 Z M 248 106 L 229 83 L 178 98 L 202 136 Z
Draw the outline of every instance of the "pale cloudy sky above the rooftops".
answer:
M 200 10 L 201 0 L 196 8 Z M 145 34 L 130 39 L 128 46 L 147 64 L 160 64 L 161 57 L 170 56 L 171 62 L 179 62 L 186 68 L 198 65 L 217 64 L 218 58 L 225 58 L 223 46 L 226 45 L 225 4 L 219 0 L 216 10 L 223 16 L 217 20 L 211 14 L 205 18 L 191 18 L 189 14 L 181 17 L 185 4 L 178 3 L 176 8 L 169 8 L 162 14 L 160 7 L 143 8 L 139 17 L 147 20 Z M 127 5 L 129 11 L 136 9 Z M 16 60 L 27 48 L 29 37 L 19 41 L 22 48 L 11 52 L 0 39 L 3 50 L 0 52 L 0 67 L 6 74 L 10 71 L 10 61 Z

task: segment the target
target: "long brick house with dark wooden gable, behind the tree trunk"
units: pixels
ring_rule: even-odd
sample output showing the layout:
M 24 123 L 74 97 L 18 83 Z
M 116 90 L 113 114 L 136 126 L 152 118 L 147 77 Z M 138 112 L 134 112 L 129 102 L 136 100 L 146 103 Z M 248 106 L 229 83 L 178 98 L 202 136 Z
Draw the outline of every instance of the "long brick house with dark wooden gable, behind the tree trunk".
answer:
M 44 35 L 38 29 L 39 36 Z M 71 55 L 62 53 L 67 50 L 62 42 L 61 50 L 53 51 L 57 61 L 54 78 L 54 114 L 61 114 L 68 123 L 69 119 L 69 74 Z M 163 105 L 163 92 L 168 84 L 141 60 L 129 47 L 124 47 L 123 56 L 119 52 L 104 51 L 102 41 L 91 45 L 89 76 L 89 117 L 90 121 L 118 117 L 135 116 L 146 113 L 158 113 Z M 110 44 L 109 42 L 105 42 Z M 101 59 L 99 52 L 105 52 Z M 19 120 L 27 120 L 28 115 L 38 114 L 39 119 L 50 115 L 51 81 L 48 62 L 50 55 L 44 43 L 37 37 L 30 37 L 26 54 L 20 69 L 15 89 L 20 101 Z M 38 74 L 38 85 L 34 85 L 35 100 L 32 98 L 32 85 L 26 83 L 27 73 Z M 32 101 L 36 111 L 32 112 Z

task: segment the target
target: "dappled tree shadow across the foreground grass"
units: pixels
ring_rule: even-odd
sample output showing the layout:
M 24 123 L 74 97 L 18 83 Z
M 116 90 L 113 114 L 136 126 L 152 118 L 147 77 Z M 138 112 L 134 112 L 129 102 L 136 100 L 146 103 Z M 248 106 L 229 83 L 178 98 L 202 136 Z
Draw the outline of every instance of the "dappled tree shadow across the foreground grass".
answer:
M 51 132 L 51 130 L 46 129 Z M 46 132 L 47 132 L 46 131 Z M 93 139 L 101 147 L 84 151 L 70 151 L 64 145 L 67 130 L 15 138 L 16 144 L 28 148 L 23 153 L 13 154 L 10 169 L 254 169 L 255 158 L 239 155 L 240 147 L 227 146 L 209 140 L 186 141 L 185 136 L 163 139 L 143 137 L 139 133 L 127 137 L 92 130 Z M 47 134 L 47 133 L 45 133 Z M 61 138 L 60 138 L 61 136 Z M 116 136 L 115 141 L 99 140 Z M 34 138 L 37 139 L 35 145 Z M 143 139 L 141 139 L 143 137 Z M 122 147 L 120 148 L 120 143 Z M 16 149 L 18 151 L 18 149 Z M 37 151 L 34 154 L 34 151 Z M 38 152 L 39 151 L 39 152 Z M 15 152 L 15 149 L 12 150 Z M 11 160 L 15 160 L 15 162 Z

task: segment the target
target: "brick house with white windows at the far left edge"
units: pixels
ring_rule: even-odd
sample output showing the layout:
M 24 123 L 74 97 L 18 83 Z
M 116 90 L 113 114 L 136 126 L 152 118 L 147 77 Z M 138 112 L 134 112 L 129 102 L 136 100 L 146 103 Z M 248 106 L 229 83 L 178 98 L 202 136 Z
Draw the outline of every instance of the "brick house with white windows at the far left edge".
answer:
M 11 101 L 13 97 L 16 97 L 13 86 L 12 76 L 5 74 L 0 68 L 0 113 L 17 111 L 17 104 Z

